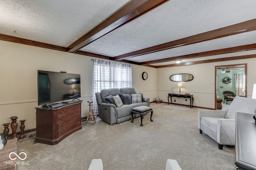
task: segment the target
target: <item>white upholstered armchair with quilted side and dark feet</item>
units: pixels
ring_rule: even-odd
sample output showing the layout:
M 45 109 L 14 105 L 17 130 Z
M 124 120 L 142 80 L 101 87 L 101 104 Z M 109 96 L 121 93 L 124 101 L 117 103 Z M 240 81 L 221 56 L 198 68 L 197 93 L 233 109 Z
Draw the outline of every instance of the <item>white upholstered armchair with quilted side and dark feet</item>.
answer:
M 218 142 L 219 149 L 223 149 L 223 145 L 235 145 L 236 112 L 254 114 L 255 108 L 256 99 L 236 96 L 228 110 L 199 109 L 200 133 L 204 132 Z

